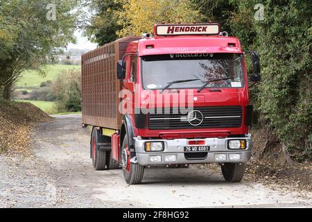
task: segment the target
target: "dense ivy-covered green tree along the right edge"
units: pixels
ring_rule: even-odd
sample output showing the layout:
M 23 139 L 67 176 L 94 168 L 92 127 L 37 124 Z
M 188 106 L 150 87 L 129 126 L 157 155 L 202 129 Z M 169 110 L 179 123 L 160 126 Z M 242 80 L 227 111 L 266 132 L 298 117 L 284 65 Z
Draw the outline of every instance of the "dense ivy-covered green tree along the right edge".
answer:
M 260 53 L 263 81 L 257 86 L 256 108 L 288 155 L 311 158 L 311 1 L 261 1 L 263 21 L 254 19 L 259 1 L 232 3 L 238 8 L 231 17 L 234 35 L 245 49 Z

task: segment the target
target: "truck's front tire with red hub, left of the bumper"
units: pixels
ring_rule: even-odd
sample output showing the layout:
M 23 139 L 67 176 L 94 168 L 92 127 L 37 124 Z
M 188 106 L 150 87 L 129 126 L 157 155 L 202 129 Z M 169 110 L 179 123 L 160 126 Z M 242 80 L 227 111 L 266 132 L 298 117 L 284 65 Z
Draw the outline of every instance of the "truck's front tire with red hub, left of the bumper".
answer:
M 144 176 L 144 166 L 130 162 L 130 150 L 128 146 L 128 135 L 125 134 L 123 146 L 121 148 L 121 161 L 123 166 L 123 178 L 128 185 L 137 185 L 142 182 Z

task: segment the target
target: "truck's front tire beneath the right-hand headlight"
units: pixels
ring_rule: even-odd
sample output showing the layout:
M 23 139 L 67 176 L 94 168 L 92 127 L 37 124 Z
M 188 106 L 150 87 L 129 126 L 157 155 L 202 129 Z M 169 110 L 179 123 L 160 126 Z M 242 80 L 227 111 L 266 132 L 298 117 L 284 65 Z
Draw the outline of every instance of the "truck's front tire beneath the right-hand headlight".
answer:
M 227 182 L 241 182 L 245 173 L 245 164 L 225 163 L 221 166 L 221 170 Z

